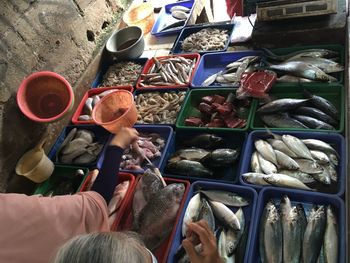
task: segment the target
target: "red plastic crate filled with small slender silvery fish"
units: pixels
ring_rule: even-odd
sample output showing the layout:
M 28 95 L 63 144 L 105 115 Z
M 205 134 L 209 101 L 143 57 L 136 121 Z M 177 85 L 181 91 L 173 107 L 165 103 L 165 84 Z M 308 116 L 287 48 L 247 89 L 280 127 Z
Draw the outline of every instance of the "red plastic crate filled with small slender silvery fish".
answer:
M 150 90 L 150 89 L 173 89 L 173 88 L 179 88 L 179 89 L 186 89 L 189 87 L 191 81 L 192 81 L 192 78 L 194 76 L 194 73 L 195 71 L 197 70 L 197 67 L 198 67 L 198 64 L 199 64 L 199 60 L 200 60 L 200 55 L 197 54 L 197 53 L 193 53 L 193 54 L 178 54 L 178 55 L 171 55 L 171 56 L 163 56 L 163 57 L 157 57 L 157 59 L 163 59 L 163 58 L 173 58 L 173 57 L 184 57 L 184 58 L 196 58 L 197 61 L 196 61 L 196 64 L 194 65 L 194 68 L 192 70 L 192 73 L 191 73 L 191 76 L 190 76 L 190 79 L 188 81 L 187 84 L 182 84 L 182 85 L 171 85 L 171 86 L 151 86 L 151 87 L 141 87 L 140 86 L 140 82 L 141 80 L 143 79 L 142 76 L 140 76 L 140 78 L 138 79 L 137 81 L 137 84 L 136 84 L 136 89 L 138 90 Z M 145 66 L 143 67 L 143 70 L 141 72 L 141 74 L 147 74 L 148 71 L 150 70 L 150 68 L 153 66 L 154 64 L 154 61 L 153 59 L 149 59 Z

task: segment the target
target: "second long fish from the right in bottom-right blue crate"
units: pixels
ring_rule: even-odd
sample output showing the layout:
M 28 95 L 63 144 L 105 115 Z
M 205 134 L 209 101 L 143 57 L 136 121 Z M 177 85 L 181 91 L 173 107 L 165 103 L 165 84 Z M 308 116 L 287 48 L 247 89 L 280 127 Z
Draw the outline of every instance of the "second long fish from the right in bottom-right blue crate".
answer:
M 323 243 L 326 228 L 326 214 L 323 206 L 311 212 L 305 229 L 302 260 L 303 263 L 316 262 Z

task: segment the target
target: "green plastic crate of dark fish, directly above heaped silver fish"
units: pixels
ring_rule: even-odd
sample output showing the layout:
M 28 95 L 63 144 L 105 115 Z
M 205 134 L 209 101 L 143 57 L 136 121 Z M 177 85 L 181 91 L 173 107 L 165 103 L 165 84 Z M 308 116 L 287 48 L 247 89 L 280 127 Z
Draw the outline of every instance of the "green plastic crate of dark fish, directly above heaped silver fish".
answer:
M 305 84 L 277 84 L 270 90 L 269 95 L 281 98 L 293 98 L 302 99 L 305 98 L 303 95 L 303 89 L 307 89 L 311 93 L 323 97 L 329 100 L 339 111 L 339 124 L 335 127 L 335 130 L 323 130 L 323 129 L 296 129 L 296 128 L 269 128 L 274 131 L 317 131 L 317 132 L 339 132 L 344 130 L 344 114 L 345 114 L 345 101 L 344 101 L 344 87 L 340 84 L 316 84 L 316 83 L 305 83 Z M 257 110 L 259 108 L 258 101 L 254 104 L 253 118 L 251 122 L 251 129 L 262 130 L 265 129 L 264 123 L 261 121 Z

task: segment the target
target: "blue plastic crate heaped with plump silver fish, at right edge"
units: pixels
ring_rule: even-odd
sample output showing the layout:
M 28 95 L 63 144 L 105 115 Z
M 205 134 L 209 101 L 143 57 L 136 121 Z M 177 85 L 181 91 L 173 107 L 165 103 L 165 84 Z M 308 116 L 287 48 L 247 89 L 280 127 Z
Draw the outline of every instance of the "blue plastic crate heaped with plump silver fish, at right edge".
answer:
M 337 194 L 341 196 L 345 191 L 345 167 L 346 167 L 346 152 L 345 152 L 345 140 L 344 137 L 330 132 L 292 132 L 292 131 L 276 131 L 275 134 L 290 134 L 299 139 L 317 139 L 329 143 L 339 154 L 339 165 L 336 167 L 338 173 L 338 183 L 337 187 L 330 191 L 330 194 Z M 251 172 L 250 159 L 252 153 L 254 152 L 255 146 L 254 141 L 256 139 L 267 139 L 272 138 L 271 135 L 267 134 L 266 131 L 253 131 L 249 134 L 247 143 L 245 145 L 243 153 L 243 161 L 240 170 L 239 181 L 242 185 L 251 186 L 257 189 L 257 191 L 264 188 L 263 186 L 249 184 L 245 182 L 242 178 L 242 174 Z M 283 188 L 285 189 L 285 188 Z M 326 187 L 324 187 L 326 189 Z M 323 189 L 322 189 L 323 190 Z

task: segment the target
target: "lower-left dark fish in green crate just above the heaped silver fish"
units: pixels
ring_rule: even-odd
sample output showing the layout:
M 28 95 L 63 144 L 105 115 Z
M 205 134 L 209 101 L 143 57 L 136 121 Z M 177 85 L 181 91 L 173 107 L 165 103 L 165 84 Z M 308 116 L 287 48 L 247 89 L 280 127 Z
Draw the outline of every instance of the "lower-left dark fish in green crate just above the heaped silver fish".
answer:
M 288 113 L 264 114 L 260 119 L 269 127 L 273 128 L 296 128 L 307 129 L 300 121 L 293 119 Z

